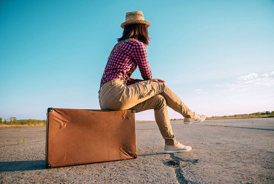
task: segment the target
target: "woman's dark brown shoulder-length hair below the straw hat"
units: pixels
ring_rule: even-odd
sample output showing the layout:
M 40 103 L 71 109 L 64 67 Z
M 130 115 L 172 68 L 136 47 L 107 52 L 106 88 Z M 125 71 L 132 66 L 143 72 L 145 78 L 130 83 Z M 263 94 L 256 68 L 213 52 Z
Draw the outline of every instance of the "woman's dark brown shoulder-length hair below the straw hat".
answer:
M 122 41 L 128 38 L 137 38 L 139 41 L 147 47 L 149 44 L 149 37 L 146 24 L 128 24 L 126 25 L 123 35 L 118 38 L 118 41 Z

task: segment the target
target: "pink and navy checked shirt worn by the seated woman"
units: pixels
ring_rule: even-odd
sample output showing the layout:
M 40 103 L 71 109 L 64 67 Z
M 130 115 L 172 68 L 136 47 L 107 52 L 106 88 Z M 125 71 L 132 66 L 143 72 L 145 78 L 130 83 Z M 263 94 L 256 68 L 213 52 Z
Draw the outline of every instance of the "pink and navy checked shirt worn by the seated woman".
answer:
M 116 49 L 123 41 L 124 40 L 118 42 L 114 46 L 114 49 Z M 111 58 L 109 58 L 103 84 L 112 79 L 122 78 L 123 75 L 130 71 L 130 68 L 132 68 L 136 63 L 144 80 L 129 78 L 127 85 L 134 84 L 139 81 L 147 81 L 152 78 L 145 45 L 138 41 L 138 39 L 128 41 L 126 44 L 122 45 L 111 56 Z

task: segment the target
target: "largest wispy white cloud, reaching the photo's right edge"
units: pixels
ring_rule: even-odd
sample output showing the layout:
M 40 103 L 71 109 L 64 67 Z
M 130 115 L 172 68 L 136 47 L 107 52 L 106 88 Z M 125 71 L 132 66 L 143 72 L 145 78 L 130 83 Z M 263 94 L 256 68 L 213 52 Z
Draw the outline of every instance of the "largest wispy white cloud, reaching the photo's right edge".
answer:
M 248 75 L 240 76 L 234 84 L 216 84 L 216 87 L 227 88 L 220 92 L 230 92 L 237 90 L 239 92 L 246 91 L 252 87 L 274 86 L 274 71 L 264 74 L 251 73 Z

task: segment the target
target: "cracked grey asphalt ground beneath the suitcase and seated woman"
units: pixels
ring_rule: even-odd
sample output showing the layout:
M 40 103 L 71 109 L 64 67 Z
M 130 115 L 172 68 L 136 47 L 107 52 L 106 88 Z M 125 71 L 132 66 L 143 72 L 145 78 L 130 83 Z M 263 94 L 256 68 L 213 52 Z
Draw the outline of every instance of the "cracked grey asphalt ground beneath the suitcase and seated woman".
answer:
M 192 150 L 170 155 L 155 122 L 136 128 L 137 159 L 53 169 L 44 168 L 45 127 L 0 129 L 0 183 L 274 182 L 274 118 L 172 121 Z

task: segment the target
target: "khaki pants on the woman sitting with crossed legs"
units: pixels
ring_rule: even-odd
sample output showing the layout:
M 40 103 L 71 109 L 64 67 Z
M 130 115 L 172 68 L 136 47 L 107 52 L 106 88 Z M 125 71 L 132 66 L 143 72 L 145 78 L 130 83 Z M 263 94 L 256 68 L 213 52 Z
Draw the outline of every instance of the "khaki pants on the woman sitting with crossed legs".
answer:
M 176 145 L 167 106 L 184 117 L 194 113 L 163 82 L 141 81 L 127 86 L 121 79 L 106 82 L 99 91 L 100 108 L 107 110 L 134 109 L 136 113 L 154 109 L 155 121 L 166 145 Z

